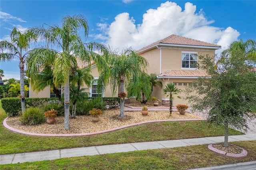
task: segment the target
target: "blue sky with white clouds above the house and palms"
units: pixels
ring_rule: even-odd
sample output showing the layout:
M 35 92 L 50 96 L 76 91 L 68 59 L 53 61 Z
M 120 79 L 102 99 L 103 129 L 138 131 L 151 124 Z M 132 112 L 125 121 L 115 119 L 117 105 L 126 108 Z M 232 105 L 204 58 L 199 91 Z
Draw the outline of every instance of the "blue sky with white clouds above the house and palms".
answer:
M 120 51 L 176 34 L 221 45 L 221 53 L 233 41 L 256 40 L 255 9 L 255 0 L 1 0 L 0 40 L 10 41 L 13 27 L 60 25 L 67 15 L 83 14 L 90 28 L 86 42 Z M 3 79 L 20 79 L 18 61 L 0 62 L 0 69 Z

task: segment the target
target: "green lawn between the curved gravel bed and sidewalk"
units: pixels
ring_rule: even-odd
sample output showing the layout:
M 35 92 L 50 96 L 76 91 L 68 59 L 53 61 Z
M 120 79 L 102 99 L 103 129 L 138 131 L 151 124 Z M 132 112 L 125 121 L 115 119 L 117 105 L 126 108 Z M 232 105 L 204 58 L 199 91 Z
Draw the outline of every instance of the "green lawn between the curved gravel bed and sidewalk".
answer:
M 3 122 L 6 117 L 6 113 L 0 106 L 0 121 Z M 229 130 L 229 135 L 237 134 L 243 133 L 233 129 Z M 223 127 L 209 125 L 206 121 L 148 123 L 114 132 L 82 137 L 27 136 L 7 130 L 1 124 L 0 154 L 223 135 Z

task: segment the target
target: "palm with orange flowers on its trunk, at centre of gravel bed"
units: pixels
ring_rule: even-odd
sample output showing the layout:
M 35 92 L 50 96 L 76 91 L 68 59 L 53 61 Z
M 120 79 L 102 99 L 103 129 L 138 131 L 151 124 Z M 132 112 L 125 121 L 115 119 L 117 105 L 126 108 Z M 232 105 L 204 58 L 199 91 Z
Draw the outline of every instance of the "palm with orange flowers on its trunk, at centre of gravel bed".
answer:
M 134 52 L 132 48 L 122 51 L 121 54 L 113 52 L 109 56 L 110 65 L 110 86 L 112 87 L 112 94 L 115 94 L 120 87 L 119 92 L 124 93 L 124 84 L 126 89 L 128 83 L 134 81 L 134 85 L 139 84 L 140 72 L 148 67 L 148 61 Z M 100 75 L 98 84 L 102 84 L 102 79 L 106 74 Z M 120 117 L 124 117 L 124 100 L 120 98 Z

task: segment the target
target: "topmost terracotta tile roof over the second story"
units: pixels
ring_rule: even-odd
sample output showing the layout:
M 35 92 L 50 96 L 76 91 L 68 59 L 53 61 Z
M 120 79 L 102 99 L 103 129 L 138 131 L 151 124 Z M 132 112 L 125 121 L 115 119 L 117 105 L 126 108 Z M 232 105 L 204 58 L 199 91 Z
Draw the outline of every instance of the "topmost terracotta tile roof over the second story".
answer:
M 137 50 L 138 52 L 148 48 L 148 47 L 152 47 L 154 45 L 157 45 L 159 43 L 166 43 L 166 44 L 178 44 L 178 45 L 196 45 L 196 46 L 205 46 L 205 47 L 216 47 L 216 49 L 220 48 L 220 45 L 216 45 L 213 43 L 208 43 L 208 42 L 202 42 L 199 40 L 194 40 L 192 38 L 186 38 L 186 37 L 182 37 L 182 36 L 177 36 L 172 34 L 171 36 L 168 36 L 162 40 L 159 40 L 157 42 L 154 42 L 146 47 L 143 47 L 139 50 Z

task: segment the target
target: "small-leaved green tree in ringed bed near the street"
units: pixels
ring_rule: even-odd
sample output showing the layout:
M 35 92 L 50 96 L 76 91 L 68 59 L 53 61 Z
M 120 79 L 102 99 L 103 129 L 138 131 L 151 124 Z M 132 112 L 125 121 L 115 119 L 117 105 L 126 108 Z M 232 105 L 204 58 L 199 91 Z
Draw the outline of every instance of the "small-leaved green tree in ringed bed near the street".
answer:
M 186 90 L 192 111 L 204 111 L 210 123 L 225 127 L 225 147 L 228 147 L 228 127 L 246 131 L 247 122 L 256 117 L 256 72 L 252 67 L 255 46 L 245 52 L 240 48 L 242 44 L 237 48 L 238 43 L 223 51 L 217 64 L 214 56 L 199 56 L 199 68 L 206 70 L 211 78 L 199 78 Z M 192 91 L 195 95 L 191 95 Z

